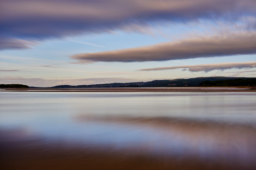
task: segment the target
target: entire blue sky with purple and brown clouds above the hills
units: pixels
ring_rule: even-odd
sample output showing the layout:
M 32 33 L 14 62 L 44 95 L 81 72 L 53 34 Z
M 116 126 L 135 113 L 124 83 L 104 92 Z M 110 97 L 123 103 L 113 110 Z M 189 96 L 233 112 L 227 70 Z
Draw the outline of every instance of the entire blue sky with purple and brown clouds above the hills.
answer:
M 0 0 L 0 84 L 256 77 L 255 0 Z

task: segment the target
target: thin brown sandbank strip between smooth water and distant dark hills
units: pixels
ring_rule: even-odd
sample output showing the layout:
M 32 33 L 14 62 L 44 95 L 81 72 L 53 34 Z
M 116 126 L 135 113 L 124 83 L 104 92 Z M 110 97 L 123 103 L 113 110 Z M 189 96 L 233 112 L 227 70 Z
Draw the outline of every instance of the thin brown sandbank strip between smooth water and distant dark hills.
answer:
M 139 88 L 81 88 L 81 89 L 2 89 L 4 91 L 29 91 L 29 92 L 256 92 L 249 87 L 139 87 Z

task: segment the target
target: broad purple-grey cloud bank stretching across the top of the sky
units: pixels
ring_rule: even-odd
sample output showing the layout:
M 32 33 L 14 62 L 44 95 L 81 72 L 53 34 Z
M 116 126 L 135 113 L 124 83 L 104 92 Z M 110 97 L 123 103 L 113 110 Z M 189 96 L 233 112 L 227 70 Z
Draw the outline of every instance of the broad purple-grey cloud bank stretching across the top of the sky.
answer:
M 152 22 L 232 22 L 256 15 L 255 0 L 1 0 L 0 8 L 1 36 L 28 41 L 116 29 L 147 32 L 141 29 Z M 27 48 L 26 43 L 17 48 Z

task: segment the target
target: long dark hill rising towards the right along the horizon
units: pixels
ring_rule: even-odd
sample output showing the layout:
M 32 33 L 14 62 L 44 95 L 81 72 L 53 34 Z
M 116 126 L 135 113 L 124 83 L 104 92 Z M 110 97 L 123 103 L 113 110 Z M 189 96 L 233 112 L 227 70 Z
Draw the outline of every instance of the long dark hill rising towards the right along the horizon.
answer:
M 104 88 L 104 87 L 195 87 L 195 86 L 254 86 L 256 78 L 246 77 L 199 77 L 190 79 L 153 80 L 132 83 L 92 85 L 59 85 L 50 88 Z

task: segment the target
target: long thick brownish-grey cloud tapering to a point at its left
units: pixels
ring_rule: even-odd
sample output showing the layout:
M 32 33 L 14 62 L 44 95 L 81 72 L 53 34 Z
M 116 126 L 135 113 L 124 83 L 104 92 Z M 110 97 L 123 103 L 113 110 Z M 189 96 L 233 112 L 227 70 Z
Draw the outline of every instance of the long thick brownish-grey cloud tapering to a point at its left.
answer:
M 192 59 L 256 53 L 256 32 L 229 36 L 211 36 L 117 51 L 82 53 L 73 59 L 82 62 L 134 62 Z

